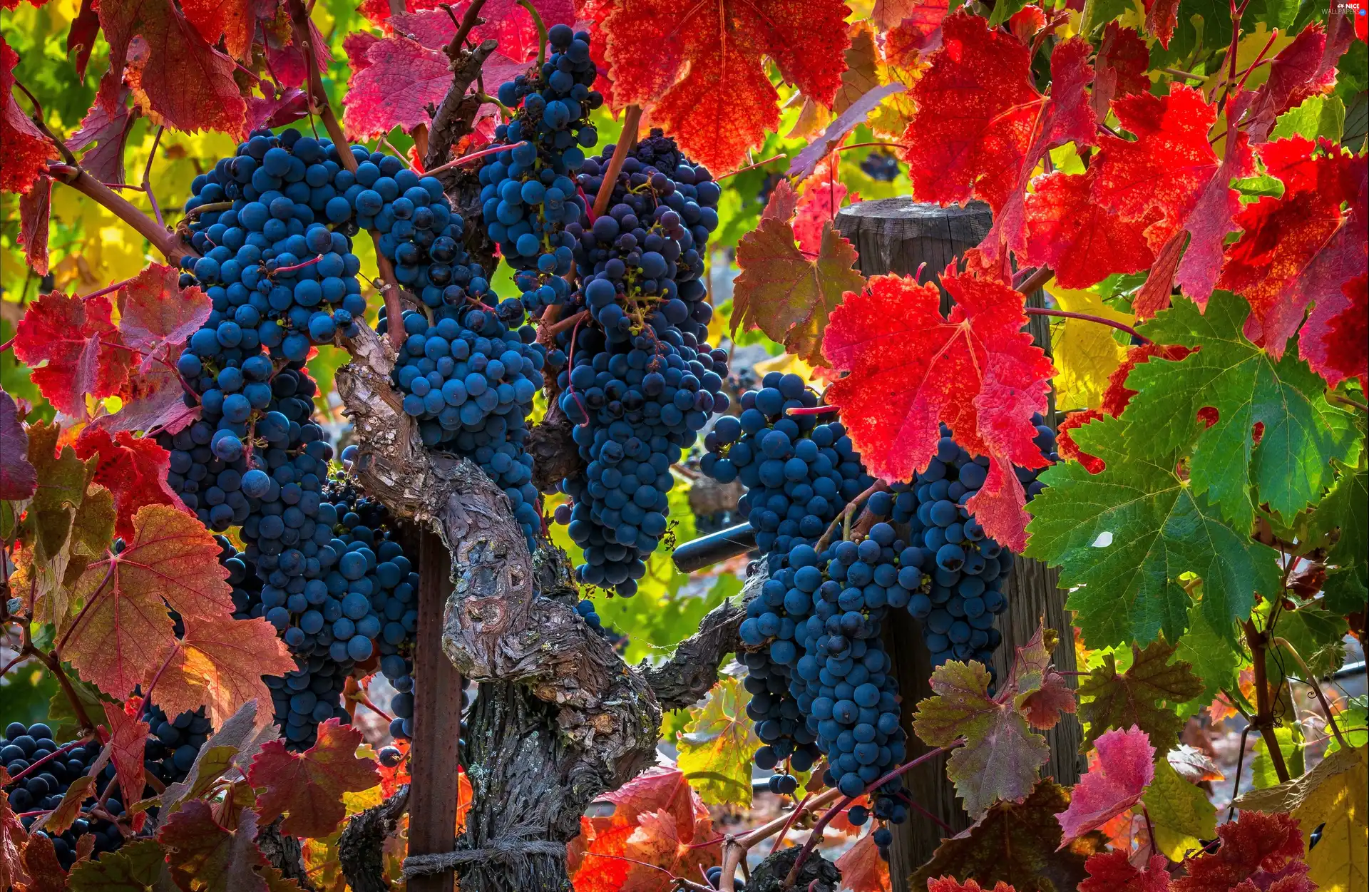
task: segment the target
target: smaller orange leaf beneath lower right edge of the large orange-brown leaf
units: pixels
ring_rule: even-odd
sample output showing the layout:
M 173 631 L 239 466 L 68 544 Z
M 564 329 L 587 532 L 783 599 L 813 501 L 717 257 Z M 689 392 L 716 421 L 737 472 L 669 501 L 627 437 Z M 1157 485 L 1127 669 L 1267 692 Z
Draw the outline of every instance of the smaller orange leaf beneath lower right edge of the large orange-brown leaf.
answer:
M 179 648 L 157 681 L 157 703 L 167 714 L 208 706 L 218 728 L 248 700 L 271 702 L 261 676 L 294 669 L 290 650 L 261 617 L 186 620 Z M 270 720 L 266 710 L 259 720 Z

